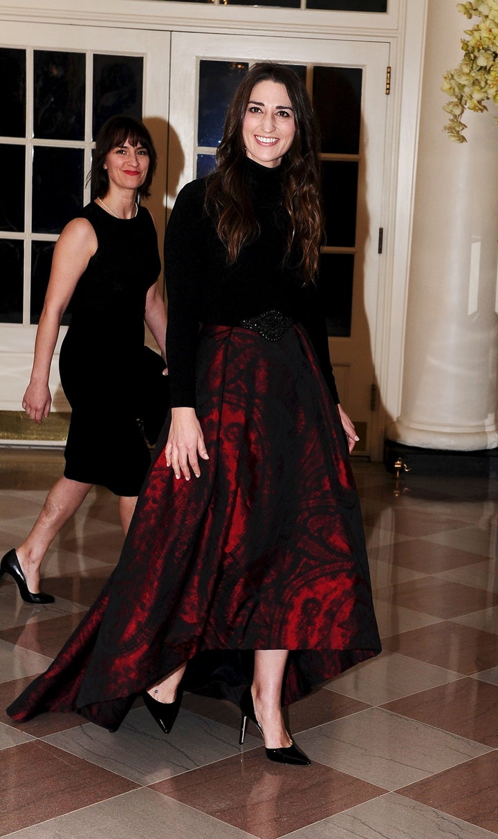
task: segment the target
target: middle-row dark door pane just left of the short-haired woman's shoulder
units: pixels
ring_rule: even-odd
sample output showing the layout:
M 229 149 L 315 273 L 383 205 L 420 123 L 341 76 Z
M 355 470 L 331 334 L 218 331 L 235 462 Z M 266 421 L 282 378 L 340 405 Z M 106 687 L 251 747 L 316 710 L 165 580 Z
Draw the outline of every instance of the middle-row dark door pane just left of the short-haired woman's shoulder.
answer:
M 83 205 L 83 150 L 36 147 L 33 232 L 60 233 Z

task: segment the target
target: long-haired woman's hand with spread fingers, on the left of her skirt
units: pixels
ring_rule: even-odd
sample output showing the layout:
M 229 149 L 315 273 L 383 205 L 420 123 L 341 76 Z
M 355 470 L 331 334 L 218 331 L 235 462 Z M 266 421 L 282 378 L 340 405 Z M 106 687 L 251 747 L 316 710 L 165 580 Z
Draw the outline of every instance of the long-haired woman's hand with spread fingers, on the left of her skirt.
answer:
M 195 477 L 200 477 L 198 455 L 205 461 L 209 460 L 195 409 L 172 408 L 171 427 L 164 449 L 166 465 L 171 466 L 174 477 L 179 478 L 183 473 L 185 481 L 189 481 L 190 469 Z

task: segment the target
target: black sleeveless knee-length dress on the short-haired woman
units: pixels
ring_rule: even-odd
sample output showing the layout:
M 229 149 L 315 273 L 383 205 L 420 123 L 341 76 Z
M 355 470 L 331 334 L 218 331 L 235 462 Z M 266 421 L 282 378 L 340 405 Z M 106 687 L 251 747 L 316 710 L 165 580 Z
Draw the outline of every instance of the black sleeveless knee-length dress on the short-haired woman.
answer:
M 80 216 L 94 228 L 98 248 L 73 294 L 60 350 L 60 381 L 72 409 L 64 474 L 134 496 L 150 466 L 137 420 L 146 395 L 145 299 L 161 268 L 157 235 L 143 207 L 135 218 L 117 219 L 92 202 Z

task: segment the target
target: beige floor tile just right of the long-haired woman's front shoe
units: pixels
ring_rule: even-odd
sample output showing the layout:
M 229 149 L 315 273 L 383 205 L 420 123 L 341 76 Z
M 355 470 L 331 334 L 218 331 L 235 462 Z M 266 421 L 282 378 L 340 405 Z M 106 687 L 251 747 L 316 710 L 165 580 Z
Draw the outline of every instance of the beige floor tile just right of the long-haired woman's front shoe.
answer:
M 391 791 L 490 750 L 380 708 L 303 732 L 299 745 L 312 760 Z

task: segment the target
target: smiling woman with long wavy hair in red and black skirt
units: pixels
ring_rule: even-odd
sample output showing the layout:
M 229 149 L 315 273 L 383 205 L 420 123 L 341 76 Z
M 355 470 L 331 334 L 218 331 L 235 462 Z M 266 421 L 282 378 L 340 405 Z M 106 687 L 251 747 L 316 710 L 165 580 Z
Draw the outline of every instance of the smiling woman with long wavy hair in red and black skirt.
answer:
M 14 719 L 115 730 L 141 694 L 169 732 L 195 690 L 240 706 L 241 743 L 252 719 L 267 758 L 305 765 L 282 706 L 379 652 L 319 300 L 316 149 L 298 76 L 253 65 L 215 172 L 166 231 L 172 410 L 121 560 Z

